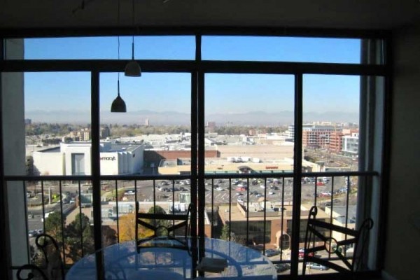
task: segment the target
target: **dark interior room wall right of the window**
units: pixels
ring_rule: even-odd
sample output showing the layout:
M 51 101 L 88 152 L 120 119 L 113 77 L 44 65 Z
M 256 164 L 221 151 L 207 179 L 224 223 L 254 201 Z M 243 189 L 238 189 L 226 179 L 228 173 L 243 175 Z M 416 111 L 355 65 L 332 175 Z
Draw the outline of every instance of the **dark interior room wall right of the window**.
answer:
M 386 275 L 420 279 L 420 23 L 393 34 L 391 174 Z

